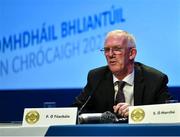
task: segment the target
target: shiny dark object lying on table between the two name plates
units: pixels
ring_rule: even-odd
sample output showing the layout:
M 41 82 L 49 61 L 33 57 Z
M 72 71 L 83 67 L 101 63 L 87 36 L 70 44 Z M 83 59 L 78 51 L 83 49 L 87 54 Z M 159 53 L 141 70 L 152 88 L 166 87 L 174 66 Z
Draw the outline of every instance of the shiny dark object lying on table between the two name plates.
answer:
M 94 124 L 94 123 L 127 123 L 128 118 L 117 118 L 110 111 L 104 113 L 85 113 L 78 117 L 79 124 Z

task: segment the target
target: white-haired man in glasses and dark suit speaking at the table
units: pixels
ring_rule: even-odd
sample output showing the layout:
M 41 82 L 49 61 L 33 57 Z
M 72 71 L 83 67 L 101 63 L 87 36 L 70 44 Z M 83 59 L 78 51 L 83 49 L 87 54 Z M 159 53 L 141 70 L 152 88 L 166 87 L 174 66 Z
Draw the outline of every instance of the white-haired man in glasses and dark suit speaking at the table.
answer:
M 76 98 L 75 106 L 82 108 L 87 103 L 83 106 L 84 112 L 111 111 L 127 117 L 130 105 L 165 103 L 170 98 L 168 77 L 134 61 L 137 50 L 131 34 L 123 30 L 109 32 L 102 51 L 108 66 L 89 72 L 87 85 Z M 124 83 L 122 90 L 117 84 L 119 81 Z M 118 92 L 123 93 L 123 101 L 116 102 Z

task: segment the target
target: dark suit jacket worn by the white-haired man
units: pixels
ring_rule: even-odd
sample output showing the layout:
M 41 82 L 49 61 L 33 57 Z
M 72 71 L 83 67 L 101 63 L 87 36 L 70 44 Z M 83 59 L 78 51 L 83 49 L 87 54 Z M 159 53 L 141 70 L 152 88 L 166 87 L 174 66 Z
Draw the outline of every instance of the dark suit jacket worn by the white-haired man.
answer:
M 138 62 L 135 63 L 134 70 L 134 105 L 165 103 L 170 98 L 168 77 L 165 74 Z M 91 96 L 83 112 L 113 112 L 115 91 L 112 72 L 108 66 L 91 70 L 87 80 L 87 85 L 76 98 L 74 106 L 81 108 Z

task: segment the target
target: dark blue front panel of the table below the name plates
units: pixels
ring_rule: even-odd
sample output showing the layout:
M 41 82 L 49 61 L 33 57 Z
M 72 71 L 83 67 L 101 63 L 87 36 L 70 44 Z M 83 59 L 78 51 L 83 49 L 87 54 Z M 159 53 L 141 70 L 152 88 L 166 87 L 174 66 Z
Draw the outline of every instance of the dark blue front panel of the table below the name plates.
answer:
M 51 126 L 45 136 L 180 136 L 180 123 Z

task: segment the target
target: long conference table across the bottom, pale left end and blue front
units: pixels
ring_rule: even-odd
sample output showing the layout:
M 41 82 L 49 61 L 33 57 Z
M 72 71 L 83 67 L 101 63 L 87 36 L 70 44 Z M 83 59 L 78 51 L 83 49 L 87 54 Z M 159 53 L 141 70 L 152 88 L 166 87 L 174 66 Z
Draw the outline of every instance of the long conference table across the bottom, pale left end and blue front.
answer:
M 180 123 L 79 124 L 50 127 L 0 124 L 0 136 L 180 136 Z

